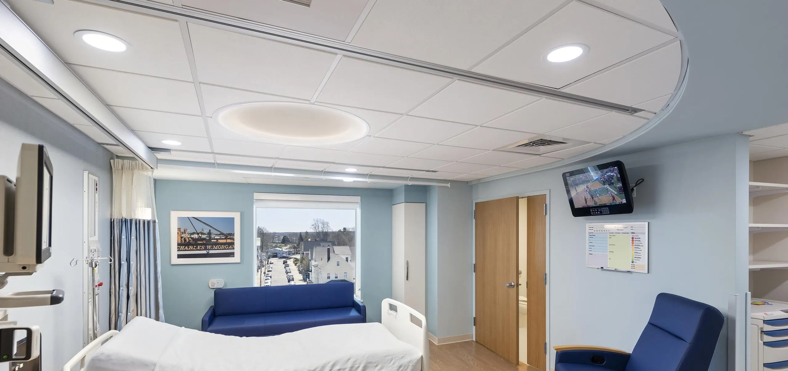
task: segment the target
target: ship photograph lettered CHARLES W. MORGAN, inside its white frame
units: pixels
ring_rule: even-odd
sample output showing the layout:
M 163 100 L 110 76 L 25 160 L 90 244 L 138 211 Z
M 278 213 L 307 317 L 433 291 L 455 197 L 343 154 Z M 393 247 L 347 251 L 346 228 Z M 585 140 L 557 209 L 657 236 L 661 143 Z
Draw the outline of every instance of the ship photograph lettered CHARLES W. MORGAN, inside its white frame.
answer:
M 234 217 L 177 217 L 177 258 L 235 258 Z

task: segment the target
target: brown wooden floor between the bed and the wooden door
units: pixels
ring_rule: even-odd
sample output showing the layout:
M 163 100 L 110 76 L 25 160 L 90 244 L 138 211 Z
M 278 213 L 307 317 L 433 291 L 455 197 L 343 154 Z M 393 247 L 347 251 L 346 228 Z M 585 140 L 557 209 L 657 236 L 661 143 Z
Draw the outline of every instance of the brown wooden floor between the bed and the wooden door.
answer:
M 430 371 L 485 370 L 539 371 L 531 366 L 516 366 L 475 341 L 435 345 L 429 343 Z

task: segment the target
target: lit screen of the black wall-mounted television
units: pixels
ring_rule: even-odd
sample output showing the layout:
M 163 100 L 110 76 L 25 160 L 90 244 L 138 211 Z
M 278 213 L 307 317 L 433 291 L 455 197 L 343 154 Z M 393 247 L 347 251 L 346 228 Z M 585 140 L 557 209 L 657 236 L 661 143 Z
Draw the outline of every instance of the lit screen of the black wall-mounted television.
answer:
M 611 166 L 604 170 L 567 177 L 567 184 L 574 207 L 592 207 L 626 203 L 624 186 L 619 168 Z

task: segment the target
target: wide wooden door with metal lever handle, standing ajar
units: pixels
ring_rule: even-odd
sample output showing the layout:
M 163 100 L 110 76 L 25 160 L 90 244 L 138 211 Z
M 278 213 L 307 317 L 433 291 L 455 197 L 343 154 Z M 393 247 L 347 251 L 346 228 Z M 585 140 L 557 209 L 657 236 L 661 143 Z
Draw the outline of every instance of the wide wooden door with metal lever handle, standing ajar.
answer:
M 476 341 L 514 365 L 519 363 L 518 201 L 476 202 L 475 217 Z

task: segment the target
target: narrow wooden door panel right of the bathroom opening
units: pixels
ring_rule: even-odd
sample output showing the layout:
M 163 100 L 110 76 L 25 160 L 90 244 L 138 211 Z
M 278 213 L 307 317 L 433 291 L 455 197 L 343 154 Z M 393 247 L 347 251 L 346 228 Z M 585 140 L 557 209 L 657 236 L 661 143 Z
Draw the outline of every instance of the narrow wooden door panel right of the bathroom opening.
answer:
M 526 276 L 528 280 L 527 363 L 541 371 L 547 366 L 547 298 L 545 290 L 545 233 L 547 232 L 547 195 L 528 196 L 528 241 Z

